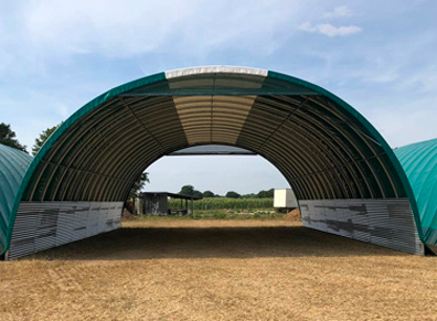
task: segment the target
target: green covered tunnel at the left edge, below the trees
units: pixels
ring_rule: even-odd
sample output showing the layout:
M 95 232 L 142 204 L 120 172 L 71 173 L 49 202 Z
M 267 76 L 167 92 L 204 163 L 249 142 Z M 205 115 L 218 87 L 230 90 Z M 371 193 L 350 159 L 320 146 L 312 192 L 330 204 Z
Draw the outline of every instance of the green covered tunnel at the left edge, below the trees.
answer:
M 6 236 L 12 216 L 12 207 L 32 157 L 0 143 L 0 252 L 6 247 Z

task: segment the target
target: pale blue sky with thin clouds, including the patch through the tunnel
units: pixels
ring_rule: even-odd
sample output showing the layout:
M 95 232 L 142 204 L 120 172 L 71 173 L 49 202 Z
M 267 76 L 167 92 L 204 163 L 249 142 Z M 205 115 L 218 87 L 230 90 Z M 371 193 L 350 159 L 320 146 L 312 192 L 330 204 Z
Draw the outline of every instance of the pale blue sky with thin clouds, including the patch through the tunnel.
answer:
M 437 1 L 247 3 L 0 0 L 0 121 L 30 148 L 117 85 L 171 68 L 243 65 L 331 90 L 392 147 L 437 137 Z M 151 190 L 287 185 L 255 157 L 163 159 L 149 172 Z

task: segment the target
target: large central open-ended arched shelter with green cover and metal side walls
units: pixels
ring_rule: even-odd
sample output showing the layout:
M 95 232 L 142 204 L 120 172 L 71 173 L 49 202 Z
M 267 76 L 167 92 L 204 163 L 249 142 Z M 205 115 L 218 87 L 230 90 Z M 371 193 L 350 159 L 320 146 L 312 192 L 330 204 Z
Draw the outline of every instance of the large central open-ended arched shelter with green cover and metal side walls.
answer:
M 78 109 L 30 164 L 4 250 L 12 258 L 118 228 L 135 179 L 159 158 L 202 145 L 268 160 L 294 189 L 307 227 L 424 252 L 406 175 L 364 117 L 305 81 L 228 66 L 151 75 Z

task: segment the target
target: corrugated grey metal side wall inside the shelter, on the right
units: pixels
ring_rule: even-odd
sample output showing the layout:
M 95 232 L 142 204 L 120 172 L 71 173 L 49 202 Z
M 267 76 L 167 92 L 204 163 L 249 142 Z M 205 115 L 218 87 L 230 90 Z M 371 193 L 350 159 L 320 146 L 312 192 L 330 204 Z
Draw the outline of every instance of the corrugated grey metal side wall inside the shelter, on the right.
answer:
M 408 199 L 299 201 L 306 227 L 424 255 Z

